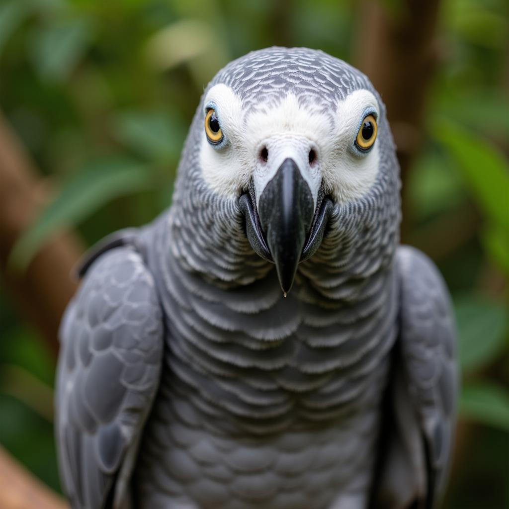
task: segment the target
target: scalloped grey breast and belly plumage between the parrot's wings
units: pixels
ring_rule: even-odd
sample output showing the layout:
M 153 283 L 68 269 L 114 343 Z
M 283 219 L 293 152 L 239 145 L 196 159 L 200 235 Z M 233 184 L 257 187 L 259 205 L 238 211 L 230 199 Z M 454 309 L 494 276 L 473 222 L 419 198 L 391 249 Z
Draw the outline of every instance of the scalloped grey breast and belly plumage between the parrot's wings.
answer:
M 346 280 L 335 300 L 304 270 L 285 299 L 270 270 L 245 287 L 204 281 L 161 256 L 166 237 L 149 263 L 166 346 L 140 506 L 321 509 L 341 492 L 341 507 L 363 507 L 398 333 L 391 266 Z

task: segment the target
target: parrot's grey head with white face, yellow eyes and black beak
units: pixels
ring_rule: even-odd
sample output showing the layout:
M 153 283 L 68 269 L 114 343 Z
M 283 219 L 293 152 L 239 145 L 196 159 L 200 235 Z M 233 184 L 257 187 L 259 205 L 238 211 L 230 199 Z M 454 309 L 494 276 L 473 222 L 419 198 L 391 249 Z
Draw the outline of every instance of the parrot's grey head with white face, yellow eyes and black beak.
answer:
M 299 264 L 343 249 L 336 260 L 345 265 L 366 244 L 355 233 L 365 239 L 377 222 L 387 223 L 378 235 L 392 235 L 395 245 L 381 212 L 388 204 L 398 226 L 398 164 L 384 105 L 366 76 L 321 51 L 251 52 L 206 88 L 174 202 L 201 218 L 195 227 L 208 240 L 194 251 L 223 251 L 218 278 L 242 284 L 274 264 L 286 296 Z M 248 259 L 250 272 L 232 269 Z

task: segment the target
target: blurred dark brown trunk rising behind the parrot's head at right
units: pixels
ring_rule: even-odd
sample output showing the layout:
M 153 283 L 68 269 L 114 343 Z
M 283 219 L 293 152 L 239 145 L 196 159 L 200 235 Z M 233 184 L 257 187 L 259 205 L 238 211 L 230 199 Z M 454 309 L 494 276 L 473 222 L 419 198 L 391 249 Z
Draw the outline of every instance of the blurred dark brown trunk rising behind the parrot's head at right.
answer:
M 358 3 L 357 67 L 387 106 L 403 183 L 402 240 L 411 223 L 406 180 L 422 140 L 429 86 L 438 61 L 439 0 Z

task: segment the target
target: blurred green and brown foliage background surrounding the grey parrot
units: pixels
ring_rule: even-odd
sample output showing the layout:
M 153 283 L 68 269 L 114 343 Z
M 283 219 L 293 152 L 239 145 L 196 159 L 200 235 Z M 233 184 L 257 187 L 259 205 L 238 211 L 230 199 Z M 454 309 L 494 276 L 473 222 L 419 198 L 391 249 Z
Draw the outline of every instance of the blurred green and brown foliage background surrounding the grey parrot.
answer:
M 55 331 L 68 272 L 171 203 L 209 79 L 274 44 L 381 91 L 402 238 L 453 295 L 462 394 L 444 507 L 509 507 L 509 69 L 505 0 L 0 0 L 0 444 L 59 491 Z

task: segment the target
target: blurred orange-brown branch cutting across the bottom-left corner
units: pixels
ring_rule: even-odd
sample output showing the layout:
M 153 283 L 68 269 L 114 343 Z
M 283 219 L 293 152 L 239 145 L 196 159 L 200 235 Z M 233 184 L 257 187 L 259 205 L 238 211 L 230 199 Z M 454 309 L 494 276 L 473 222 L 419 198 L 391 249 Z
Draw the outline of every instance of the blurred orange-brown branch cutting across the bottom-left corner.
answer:
M 0 448 L 0 507 L 2 509 L 68 509 L 40 481 L 26 472 Z

